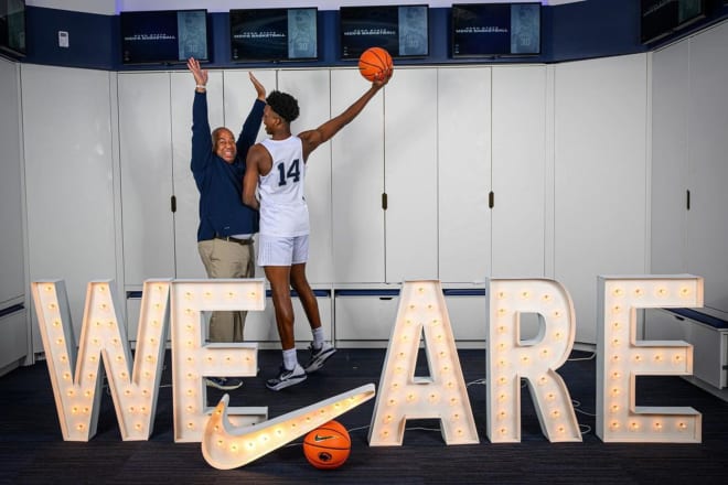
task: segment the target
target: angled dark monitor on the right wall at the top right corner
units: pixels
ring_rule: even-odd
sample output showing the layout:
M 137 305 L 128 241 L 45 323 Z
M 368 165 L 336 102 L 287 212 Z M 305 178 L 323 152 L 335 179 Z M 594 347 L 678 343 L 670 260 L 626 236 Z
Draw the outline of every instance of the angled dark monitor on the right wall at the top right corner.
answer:
M 640 40 L 659 41 L 705 17 L 705 0 L 642 0 Z

